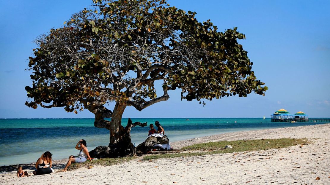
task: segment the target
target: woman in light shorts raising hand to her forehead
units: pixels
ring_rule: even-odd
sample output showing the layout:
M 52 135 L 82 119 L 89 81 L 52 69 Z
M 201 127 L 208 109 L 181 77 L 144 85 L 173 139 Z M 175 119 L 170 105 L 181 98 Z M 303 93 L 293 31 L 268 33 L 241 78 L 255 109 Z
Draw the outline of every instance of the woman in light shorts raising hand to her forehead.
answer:
M 79 146 L 80 145 L 80 146 Z M 87 159 L 92 161 L 92 159 L 89 156 L 88 149 L 87 149 L 87 144 L 86 141 L 81 139 L 77 145 L 76 149 L 80 150 L 78 156 L 70 155 L 68 163 L 66 164 L 65 168 L 62 170 L 62 172 L 66 172 L 68 167 L 71 165 L 71 163 L 83 163 Z

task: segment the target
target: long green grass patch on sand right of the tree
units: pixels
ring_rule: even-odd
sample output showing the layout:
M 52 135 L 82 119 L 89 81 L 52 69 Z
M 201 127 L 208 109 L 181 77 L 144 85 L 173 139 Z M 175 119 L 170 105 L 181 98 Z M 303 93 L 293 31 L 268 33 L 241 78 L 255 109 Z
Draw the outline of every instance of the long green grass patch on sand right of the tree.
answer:
M 147 155 L 143 160 L 174 158 L 174 157 L 191 157 L 207 154 L 232 153 L 244 151 L 258 151 L 271 148 L 284 148 L 294 145 L 304 145 L 307 139 L 262 139 L 262 140 L 237 140 L 237 141 L 220 141 L 201 143 L 183 147 L 182 150 L 188 150 L 189 153 L 167 153 L 158 155 Z M 224 149 L 226 145 L 231 145 L 233 148 Z

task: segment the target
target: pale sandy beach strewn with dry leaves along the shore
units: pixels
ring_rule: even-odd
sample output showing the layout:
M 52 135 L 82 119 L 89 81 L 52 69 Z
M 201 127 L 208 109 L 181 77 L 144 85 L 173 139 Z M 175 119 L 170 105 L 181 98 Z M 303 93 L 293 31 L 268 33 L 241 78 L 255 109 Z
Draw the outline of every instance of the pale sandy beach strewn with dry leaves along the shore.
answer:
M 1 169 L 0 184 L 330 184 L 330 124 L 226 133 L 172 143 L 175 148 L 210 141 L 308 138 L 282 149 L 158 159 L 17 178 Z M 25 166 L 27 172 L 33 165 Z M 54 169 L 63 168 L 63 160 Z M 320 180 L 315 180 L 319 177 Z

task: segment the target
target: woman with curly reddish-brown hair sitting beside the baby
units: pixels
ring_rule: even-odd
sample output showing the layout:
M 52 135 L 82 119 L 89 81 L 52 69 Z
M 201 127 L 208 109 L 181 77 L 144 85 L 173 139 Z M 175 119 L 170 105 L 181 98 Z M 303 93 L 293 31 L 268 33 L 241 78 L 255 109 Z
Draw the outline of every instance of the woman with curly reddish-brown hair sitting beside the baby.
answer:
M 44 175 L 49 174 L 52 172 L 51 170 L 51 156 L 52 154 L 47 151 L 39 157 L 39 159 L 36 162 L 36 169 L 33 171 L 34 175 Z

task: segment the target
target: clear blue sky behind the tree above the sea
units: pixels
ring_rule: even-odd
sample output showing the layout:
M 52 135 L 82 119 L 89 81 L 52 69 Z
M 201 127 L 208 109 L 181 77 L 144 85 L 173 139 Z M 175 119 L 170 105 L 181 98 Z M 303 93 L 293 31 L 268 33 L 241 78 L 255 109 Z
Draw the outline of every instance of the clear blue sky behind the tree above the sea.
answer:
M 33 40 L 63 25 L 71 14 L 91 0 L 0 1 L 0 118 L 93 118 L 87 110 L 75 115 L 63 108 L 24 105 L 24 87 L 31 85 L 28 57 Z M 171 6 L 197 12 L 197 19 L 211 21 L 220 31 L 238 27 L 246 35 L 240 41 L 254 63 L 258 79 L 269 87 L 266 96 L 229 97 L 206 101 L 170 99 L 142 112 L 128 107 L 123 117 L 270 117 L 285 108 L 310 117 L 330 117 L 330 1 L 219 1 L 170 0 Z M 159 91 L 161 93 L 161 91 Z M 111 104 L 109 107 L 113 107 Z

